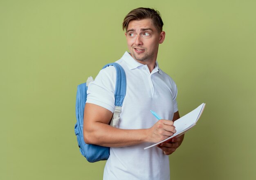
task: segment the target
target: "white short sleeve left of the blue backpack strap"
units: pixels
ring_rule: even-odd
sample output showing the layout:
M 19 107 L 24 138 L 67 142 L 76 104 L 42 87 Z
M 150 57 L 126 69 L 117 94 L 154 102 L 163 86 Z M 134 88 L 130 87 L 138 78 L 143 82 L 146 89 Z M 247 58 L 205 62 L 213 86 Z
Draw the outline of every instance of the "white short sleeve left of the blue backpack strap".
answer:
M 86 103 L 99 105 L 114 112 L 115 109 L 115 67 L 102 69 L 87 90 Z

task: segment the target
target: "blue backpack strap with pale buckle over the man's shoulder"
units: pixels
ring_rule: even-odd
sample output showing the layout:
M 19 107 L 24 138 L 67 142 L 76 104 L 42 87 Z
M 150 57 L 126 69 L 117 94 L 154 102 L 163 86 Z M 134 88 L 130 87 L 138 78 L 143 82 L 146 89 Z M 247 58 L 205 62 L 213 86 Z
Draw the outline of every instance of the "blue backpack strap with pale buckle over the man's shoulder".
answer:
M 126 75 L 121 65 L 117 64 L 116 62 L 106 64 L 102 69 L 108 66 L 114 66 L 117 72 L 115 87 L 115 110 L 110 123 L 111 126 L 116 127 L 120 119 L 119 114 L 121 113 L 121 107 L 123 105 L 124 97 L 126 95 Z

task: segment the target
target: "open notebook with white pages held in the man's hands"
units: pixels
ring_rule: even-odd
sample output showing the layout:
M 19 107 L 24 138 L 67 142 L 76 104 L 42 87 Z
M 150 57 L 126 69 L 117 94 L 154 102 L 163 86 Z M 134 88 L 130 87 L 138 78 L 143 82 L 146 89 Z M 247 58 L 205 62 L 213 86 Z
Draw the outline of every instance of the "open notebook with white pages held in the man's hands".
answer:
M 196 122 L 200 118 L 202 112 L 204 111 L 205 103 L 202 103 L 200 106 L 195 108 L 190 113 L 187 113 L 185 116 L 182 116 L 180 119 L 177 119 L 174 121 L 173 125 L 175 126 L 176 133 L 173 134 L 173 136 L 170 136 L 169 138 L 166 138 L 165 140 L 162 140 L 160 142 L 157 142 L 151 146 L 145 147 L 144 149 L 148 149 L 150 147 L 156 146 L 157 144 L 160 144 L 162 142 L 168 141 L 171 138 L 174 138 L 177 135 L 182 135 L 189 129 L 191 129 L 193 126 L 195 126 Z

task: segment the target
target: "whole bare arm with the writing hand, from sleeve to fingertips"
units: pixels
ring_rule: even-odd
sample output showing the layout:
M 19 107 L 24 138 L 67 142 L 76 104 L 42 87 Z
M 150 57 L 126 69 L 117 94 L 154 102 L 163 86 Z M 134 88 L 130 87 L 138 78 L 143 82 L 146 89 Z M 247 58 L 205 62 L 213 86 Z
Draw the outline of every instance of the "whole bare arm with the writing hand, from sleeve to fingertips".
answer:
M 159 120 L 149 129 L 119 129 L 111 127 L 112 112 L 95 104 L 86 103 L 84 111 L 84 140 L 87 144 L 124 147 L 142 142 L 159 142 L 176 132 L 173 122 Z

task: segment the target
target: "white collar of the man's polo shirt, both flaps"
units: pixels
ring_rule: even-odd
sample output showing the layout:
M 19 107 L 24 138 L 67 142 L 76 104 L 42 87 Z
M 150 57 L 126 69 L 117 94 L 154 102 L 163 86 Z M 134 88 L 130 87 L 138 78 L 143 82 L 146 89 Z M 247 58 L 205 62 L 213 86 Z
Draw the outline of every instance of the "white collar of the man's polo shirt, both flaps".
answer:
M 132 58 L 132 56 L 130 55 L 130 53 L 128 53 L 127 51 L 124 53 L 124 55 L 122 56 L 122 59 L 126 62 L 128 68 L 130 70 L 132 69 L 136 69 L 139 66 L 144 66 L 144 64 L 139 63 L 137 60 L 135 60 L 134 58 Z M 155 68 L 158 70 L 159 74 L 163 74 L 162 70 L 159 68 L 158 62 L 156 61 L 155 63 Z

